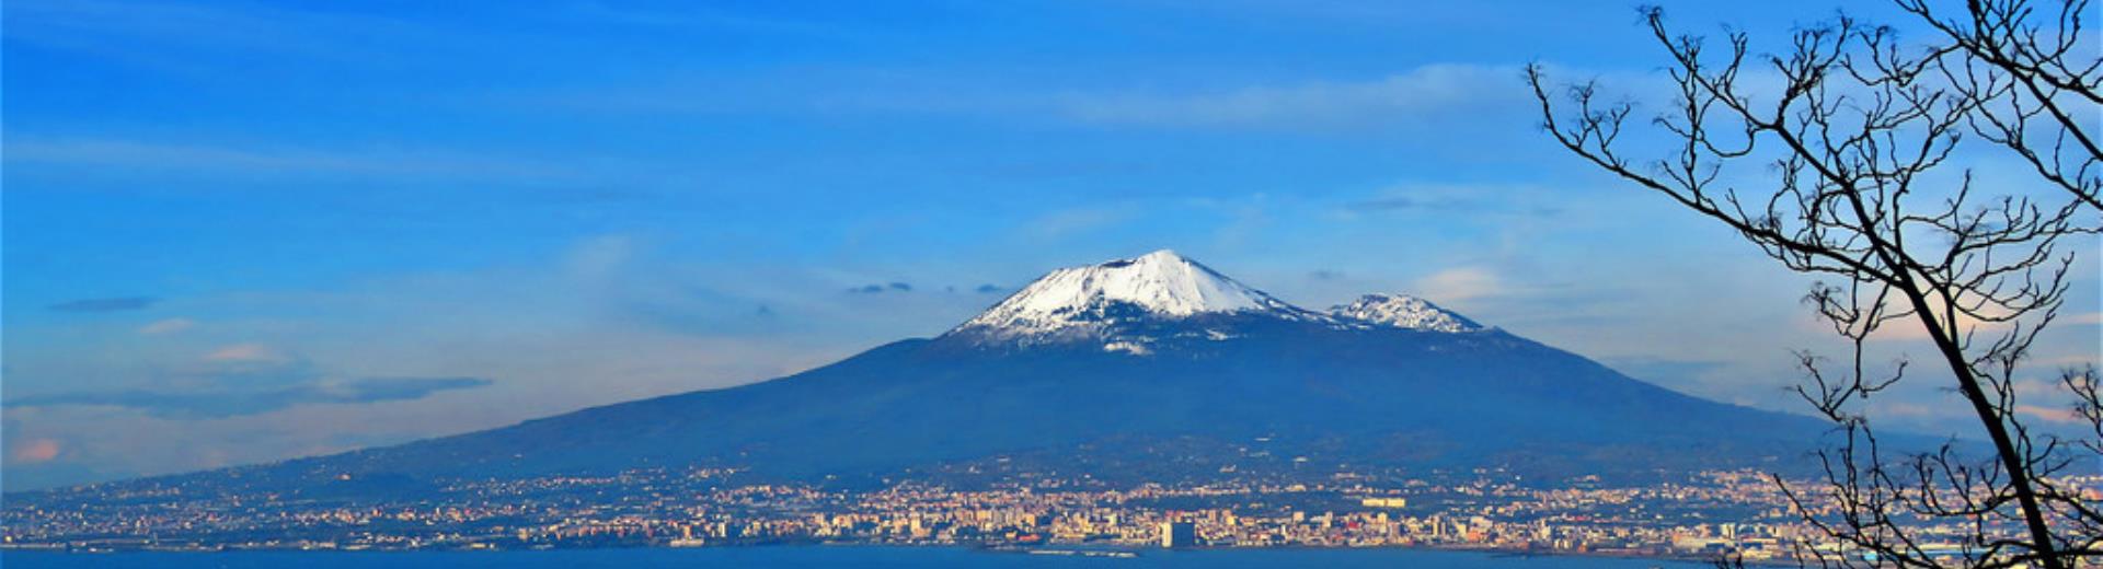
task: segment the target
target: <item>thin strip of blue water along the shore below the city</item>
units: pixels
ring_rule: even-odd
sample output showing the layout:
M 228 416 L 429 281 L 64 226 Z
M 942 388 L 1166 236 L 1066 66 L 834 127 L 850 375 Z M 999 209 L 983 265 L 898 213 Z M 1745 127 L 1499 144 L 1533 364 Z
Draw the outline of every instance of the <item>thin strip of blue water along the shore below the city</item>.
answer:
M 29 567 L 1426 567 L 1426 569 L 1693 569 L 1697 563 L 1598 556 L 1497 556 L 1438 550 L 1142 550 L 1138 559 L 1049 556 L 969 548 L 778 546 L 698 550 L 545 552 L 6 552 L 8 569 Z

